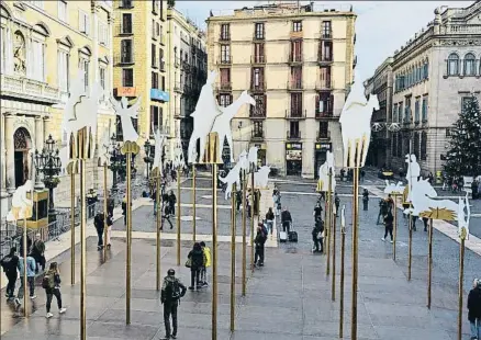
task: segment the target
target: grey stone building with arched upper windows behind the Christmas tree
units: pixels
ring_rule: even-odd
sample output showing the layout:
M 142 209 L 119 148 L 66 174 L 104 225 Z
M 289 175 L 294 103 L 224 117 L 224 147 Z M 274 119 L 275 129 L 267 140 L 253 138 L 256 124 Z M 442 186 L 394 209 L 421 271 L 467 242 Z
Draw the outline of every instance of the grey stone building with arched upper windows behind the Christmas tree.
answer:
M 423 174 L 443 170 L 449 129 L 471 93 L 481 91 L 481 1 L 438 8 L 434 21 L 394 52 L 392 163 L 404 168 L 410 148 Z M 388 117 L 389 120 L 389 117 Z

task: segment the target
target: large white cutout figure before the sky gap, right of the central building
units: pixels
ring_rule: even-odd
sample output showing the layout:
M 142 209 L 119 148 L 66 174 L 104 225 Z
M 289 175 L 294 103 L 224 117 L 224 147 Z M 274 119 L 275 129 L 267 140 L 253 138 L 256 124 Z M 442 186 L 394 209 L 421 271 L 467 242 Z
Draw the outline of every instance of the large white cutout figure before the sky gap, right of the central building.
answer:
M 379 110 L 378 97 L 371 94 L 367 102 L 362 82 L 359 76 L 356 75 L 356 80 L 339 117 L 344 146 L 344 167 L 360 168 L 365 166 L 371 139 L 372 110 Z M 357 149 L 356 143 L 359 143 Z

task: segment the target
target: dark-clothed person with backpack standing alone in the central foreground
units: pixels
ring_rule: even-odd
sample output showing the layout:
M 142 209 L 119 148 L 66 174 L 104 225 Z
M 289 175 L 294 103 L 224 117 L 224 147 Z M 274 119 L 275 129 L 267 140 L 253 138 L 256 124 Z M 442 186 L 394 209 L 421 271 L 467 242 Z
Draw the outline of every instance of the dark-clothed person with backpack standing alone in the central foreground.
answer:
M 166 337 L 164 339 L 177 339 L 177 307 L 180 298 L 186 295 L 186 286 L 176 277 L 176 271 L 169 269 L 164 277 L 160 293 L 160 302 L 164 304 L 164 325 Z M 170 332 L 170 316 L 172 316 L 172 331 Z

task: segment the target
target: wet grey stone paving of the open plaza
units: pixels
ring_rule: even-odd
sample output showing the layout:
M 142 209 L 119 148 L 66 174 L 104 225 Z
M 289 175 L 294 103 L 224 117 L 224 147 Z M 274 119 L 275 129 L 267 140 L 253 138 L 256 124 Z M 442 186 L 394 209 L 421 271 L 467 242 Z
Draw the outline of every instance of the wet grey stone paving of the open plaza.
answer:
M 379 185 L 374 178 L 366 185 Z M 199 180 L 197 191 L 197 230 L 208 236 L 212 230 L 212 193 L 209 181 Z M 228 331 L 231 243 L 219 245 L 219 317 L 220 340 L 332 340 L 338 338 L 339 324 L 339 267 L 340 247 L 337 233 L 336 301 L 331 299 L 331 279 L 326 277 L 326 257 L 311 253 L 312 209 L 316 200 L 309 181 L 280 181 L 282 204 L 291 211 L 298 243 L 279 245 L 266 249 L 265 267 L 248 273 L 247 295 L 240 296 L 240 250 L 236 243 L 236 331 Z M 362 183 L 361 183 L 362 184 Z M 190 181 L 181 183 L 181 204 L 191 201 Z M 346 282 L 345 282 L 345 339 L 350 338 L 351 301 L 351 190 L 349 184 L 338 188 L 342 205 L 346 205 Z M 230 202 L 219 192 L 219 234 L 228 236 Z M 426 308 L 427 234 L 418 224 L 413 237 L 412 281 L 407 282 L 407 227 L 399 211 L 398 258 L 392 260 L 392 245 L 382 242 L 383 227 L 376 225 L 378 199 L 372 195 L 369 211 L 360 211 L 359 226 L 359 286 L 358 339 L 457 339 L 457 290 L 459 245 L 435 230 L 433 246 L 433 304 Z M 206 206 L 206 207 L 204 207 Z M 155 217 L 150 203 L 135 205 L 133 230 L 155 235 Z M 192 231 L 191 208 L 181 207 L 182 234 Z M 118 214 L 119 216 L 119 214 Z M 120 217 L 120 216 L 119 216 Z M 176 219 L 172 219 L 176 226 Z M 473 218 L 478 226 L 481 218 Z M 339 218 L 337 218 L 337 227 Z M 92 228 L 92 227 L 89 227 Z M 97 238 L 88 238 L 87 252 L 87 328 L 88 339 L 160 339 L 164 336 L 163 307 L 155 290 L 155 239 L 134 238 L 132 254 L 132 324 L 125 325 L 125 239 L 123 220 L 114 224 L 112 249 L 103 259 L 97 251 Z M 237 235 L 240 217 L 237 216 Z M 338 230 L 338 229 L 337 229 Z M 176 233 L 166 228 L 164 235 Z M 89 234 L 92 235 L 92 234 Z M 138 234 L 141 235 L 141 234 Z M 122 237 L 121 237 L 122 236 Z M 182 238 L 184 239 L 184 238 Z M 191 242 L 182 240 L 181 267 L 176 265 L 174 235 L 161 242 L 163 276 L 168 268 L 176 269 L 181 281 L 189 285 L 190 272 L 183 267 Z M 48 247 L 48 243 L 47 243 Z M 1 301 L 2 340 L 11 339 L 78 339 L 79 336 L 79 245 L 76 248 L 77 283 L 70 286 L 70 251 L 55 260 L 60 262 L 61 292 L 67 313 L 59 316 L 53 304 L 54 317 L 45 319 L 45 294 L 38 286 L 37 299 L 29 304 L 30 317 L 22 310 Z M 247 254 L 249 256 L 250 249 Z M 52 260 L 52 259 L 51 259 Z M 481 276 L 481 256 L 466 250 L 465 303 L 474 276 Z M 178 339 L 211 339 L 211 287 L 188 292 L 179 307 Z M 463 339 L 469 339 L 469 324 L 463 310 Z

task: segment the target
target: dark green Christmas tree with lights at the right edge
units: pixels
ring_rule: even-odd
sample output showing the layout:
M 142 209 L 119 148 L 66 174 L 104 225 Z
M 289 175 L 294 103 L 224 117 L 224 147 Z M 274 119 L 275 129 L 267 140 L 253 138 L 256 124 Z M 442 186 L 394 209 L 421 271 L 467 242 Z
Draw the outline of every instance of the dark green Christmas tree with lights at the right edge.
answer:
M 461 114 L 450 129 L 445 171 L 448 177 L 481 174 L 481 114 L 479 101 L 465 99 Z

